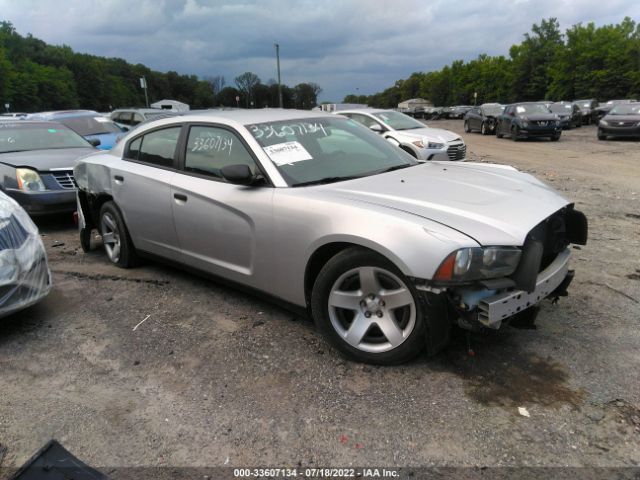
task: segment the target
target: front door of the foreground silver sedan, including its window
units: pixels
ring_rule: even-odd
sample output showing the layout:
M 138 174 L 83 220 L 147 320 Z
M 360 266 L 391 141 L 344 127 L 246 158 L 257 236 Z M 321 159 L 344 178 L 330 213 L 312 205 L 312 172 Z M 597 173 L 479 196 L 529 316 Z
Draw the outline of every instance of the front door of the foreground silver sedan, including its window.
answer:
M 274 189 L 228 183 L 220 169 L 248 165 L 264 174 L 241 136 L 224 125 L 191 124 L 181 169 L 171 182 L 175 230 L 188 265 L 256 288 L 268 287 Z

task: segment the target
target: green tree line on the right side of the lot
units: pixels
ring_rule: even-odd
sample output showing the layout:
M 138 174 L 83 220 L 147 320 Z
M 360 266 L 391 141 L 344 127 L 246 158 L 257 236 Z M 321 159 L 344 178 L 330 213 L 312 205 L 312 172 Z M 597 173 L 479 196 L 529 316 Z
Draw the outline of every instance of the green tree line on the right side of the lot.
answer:
M 439 71 L 415 72 L 374 95 L 347 95 L 345 103 L 391 108 L 409 98 L 437 106 L 537 100 L 640 99 L 640 25 L 577 24 L 560 31 L 557 19 L 534 24 L 509 57 L 482 54 Z

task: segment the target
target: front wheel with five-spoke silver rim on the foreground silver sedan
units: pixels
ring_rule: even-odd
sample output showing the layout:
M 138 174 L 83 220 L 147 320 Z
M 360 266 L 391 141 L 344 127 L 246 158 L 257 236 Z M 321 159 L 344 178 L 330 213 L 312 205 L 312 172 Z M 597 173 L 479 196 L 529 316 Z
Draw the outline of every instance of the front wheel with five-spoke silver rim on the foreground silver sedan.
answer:
M 345 356 L 395 365 L 425 346 L 423 307 L 413 284 L 390 261 L 359 247 L 320 271 L 311 294 L 318 330 Z

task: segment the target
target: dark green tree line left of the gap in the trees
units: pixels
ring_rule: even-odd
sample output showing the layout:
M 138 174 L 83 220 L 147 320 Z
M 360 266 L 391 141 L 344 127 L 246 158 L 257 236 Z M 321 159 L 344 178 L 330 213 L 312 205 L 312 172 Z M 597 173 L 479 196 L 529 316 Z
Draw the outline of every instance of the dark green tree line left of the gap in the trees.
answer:
M 252 72 L 236 77 L 235 86 L 227 85 L 221 75 L 200 79 L 174 71 L 157 72 L 121 58 L 48 45 L 31 34 L 23 37 L 10 22 L 0 21 L 0 111 L 5 110 L 5 104 L 12 111 L 25 112 L 143 107 L 141 77 L 146 79 L 150 103 L 168 98 L 191 108 L 279 106 L 277 83 L 269 80 L 263 84 Z M 315 83 L 282 85 L 283 106 L 310 109 L 321 91 Z

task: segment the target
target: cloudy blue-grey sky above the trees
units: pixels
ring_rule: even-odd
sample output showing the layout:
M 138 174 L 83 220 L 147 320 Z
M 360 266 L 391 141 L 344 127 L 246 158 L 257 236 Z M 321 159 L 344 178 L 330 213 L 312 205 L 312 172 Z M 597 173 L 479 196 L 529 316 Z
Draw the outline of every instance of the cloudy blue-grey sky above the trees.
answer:
M 252 71 L 316 82 L 322 100 L 370 94 L 414 71 L 480 53 L 507 55 L 533 23 L 640 20 L 638 0 L 0 0 L 0 19 L 75 51 L 154 70 L 224 75 Z

